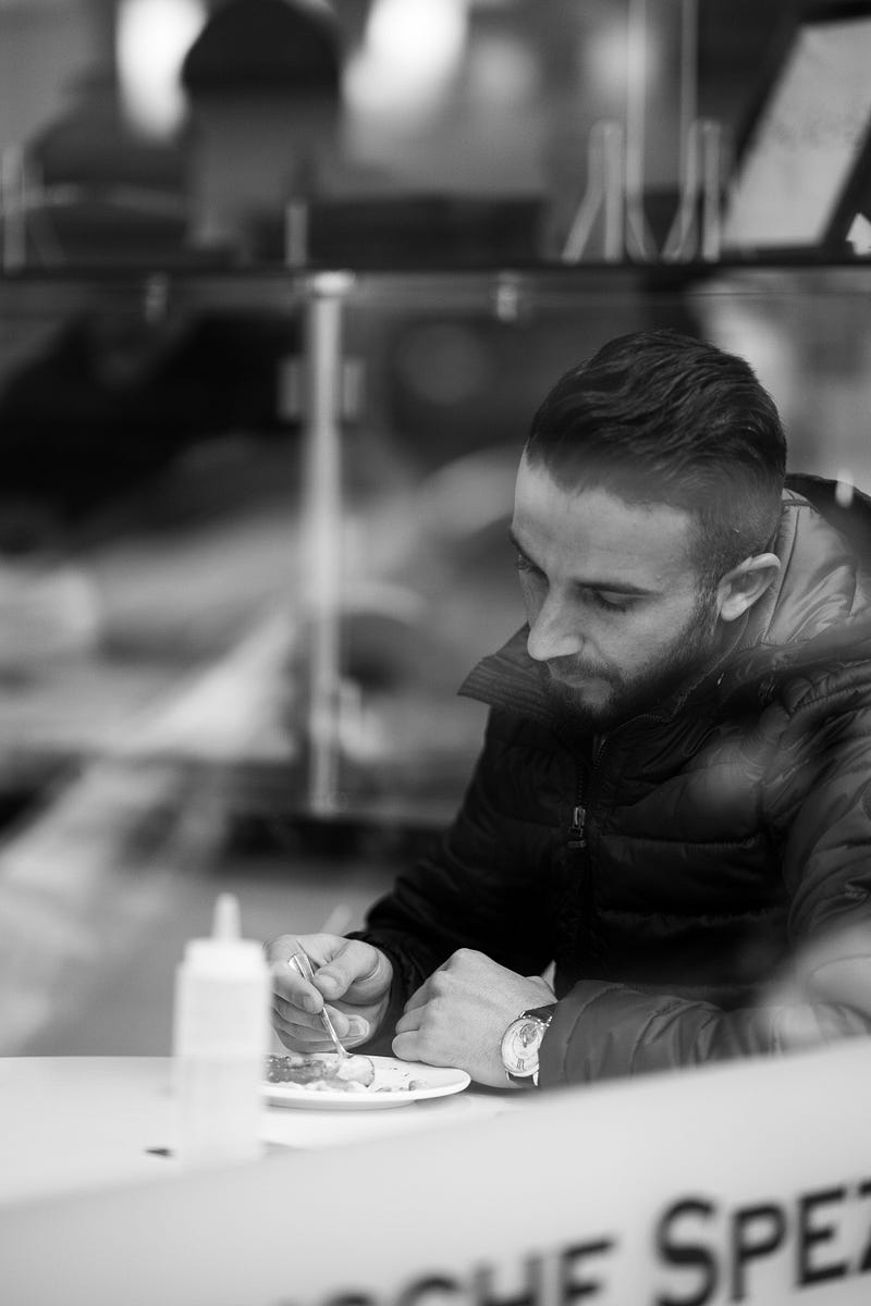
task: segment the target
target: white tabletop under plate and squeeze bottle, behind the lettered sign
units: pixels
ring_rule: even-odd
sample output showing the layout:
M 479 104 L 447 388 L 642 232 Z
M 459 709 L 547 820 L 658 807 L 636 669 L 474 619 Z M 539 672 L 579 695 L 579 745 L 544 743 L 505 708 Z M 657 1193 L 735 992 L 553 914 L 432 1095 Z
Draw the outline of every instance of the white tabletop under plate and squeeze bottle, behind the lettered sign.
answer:
M 471 1087 L 384 1110 L 264 1105 L 264 1160 L 492 1119 L 525 1097 Z M 0 1058 L 0 1204 L 165 1178 L 179 1169 L 171 1144 L 170 1058 Z

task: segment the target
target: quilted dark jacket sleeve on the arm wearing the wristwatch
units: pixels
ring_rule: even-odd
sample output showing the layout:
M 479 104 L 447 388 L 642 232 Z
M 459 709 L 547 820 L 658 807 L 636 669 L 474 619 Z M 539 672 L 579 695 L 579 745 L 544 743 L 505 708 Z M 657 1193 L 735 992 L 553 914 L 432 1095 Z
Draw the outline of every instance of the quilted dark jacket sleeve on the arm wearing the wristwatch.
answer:
M 871 697 L 854 674 L 789 704 L 764 785 L 794 948 L 757 1004 L 584 981 L 559 1003 L 542 1084 L 585 1083 L 871 1033 Z

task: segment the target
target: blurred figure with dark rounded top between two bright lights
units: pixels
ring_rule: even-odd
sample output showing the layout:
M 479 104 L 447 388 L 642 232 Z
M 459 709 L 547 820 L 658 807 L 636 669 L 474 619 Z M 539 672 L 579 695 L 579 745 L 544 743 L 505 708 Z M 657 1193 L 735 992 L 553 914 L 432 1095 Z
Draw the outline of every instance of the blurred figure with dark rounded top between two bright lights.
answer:
M 370 180 L 342 148 L 342 33 L 326 0 L 226 0 L 214 9 L 182 68 L 197 248 L 272 253 L 289 204 L 304 210 L 315 196 Z M 290 239 L 294 261 L 306 263 L 304 212 L 299 222 Z

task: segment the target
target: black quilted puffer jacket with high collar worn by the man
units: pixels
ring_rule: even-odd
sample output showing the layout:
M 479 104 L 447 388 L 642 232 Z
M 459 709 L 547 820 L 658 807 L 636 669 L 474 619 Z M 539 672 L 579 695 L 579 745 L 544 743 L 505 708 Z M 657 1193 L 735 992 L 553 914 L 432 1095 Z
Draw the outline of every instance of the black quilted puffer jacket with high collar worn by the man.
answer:
M 555 718 L 525 631 L 475 667 L 462 808 L 362 934 L 394 1012 L 467 947 L 555 963 L 542 1084 L 871 1032 L 871 569 L 837 515 L 790 478 L 780 580 L 730 653 L 602 739 Z M 871 532 L 868 500 L 844 521 Z

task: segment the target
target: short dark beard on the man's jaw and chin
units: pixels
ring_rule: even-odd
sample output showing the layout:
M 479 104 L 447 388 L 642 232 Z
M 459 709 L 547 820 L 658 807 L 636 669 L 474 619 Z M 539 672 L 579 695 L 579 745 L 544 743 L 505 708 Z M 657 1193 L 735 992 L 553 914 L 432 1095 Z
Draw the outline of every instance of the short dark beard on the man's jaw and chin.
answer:
M 703 596 L 686 627 L 658 652 L 650 665 L 631 678 L 611 666 L 573 657 L 552 658 L 539 663 L 538 670 L 548 699 L 572 729 L 581 734 L 606 734 L 679 691 L 688 692 L 713 665 L 720 645 L 714 599 Z M 565 683 L 581 679 L 607 686 L 601 703 L 586 701 L 581 690 Z

